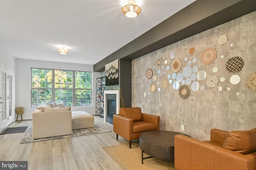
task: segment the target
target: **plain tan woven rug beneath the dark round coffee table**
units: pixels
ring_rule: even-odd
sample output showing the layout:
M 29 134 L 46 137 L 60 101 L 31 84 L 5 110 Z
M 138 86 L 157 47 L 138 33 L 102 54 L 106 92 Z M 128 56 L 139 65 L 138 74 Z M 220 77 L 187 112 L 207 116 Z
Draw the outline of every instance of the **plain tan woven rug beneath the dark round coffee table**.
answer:
M 125 170 L 175 170 L 174 160 L 149 158 L 141 163 L 141 150 L 139 142 L 133 142 L 129 149 L 129 143 L 104 147 L 103 149 Z M 149 155 L 144 153 L 144 157 Z

